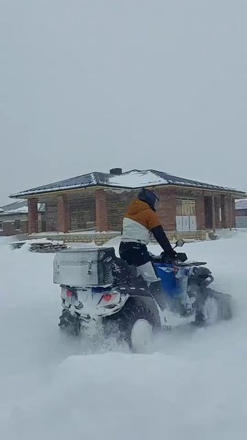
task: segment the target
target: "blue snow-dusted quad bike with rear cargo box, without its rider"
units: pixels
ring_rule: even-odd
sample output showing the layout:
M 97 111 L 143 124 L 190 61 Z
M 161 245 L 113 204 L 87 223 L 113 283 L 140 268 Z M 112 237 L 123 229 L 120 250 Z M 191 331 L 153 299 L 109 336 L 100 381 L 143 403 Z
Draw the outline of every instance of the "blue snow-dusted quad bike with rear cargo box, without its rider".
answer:
M 176 243 L 182 246 L 183 240 Z M 204 262 L 176 261 L 152 255 L 161 279 L 165 307 L 154 298 L 136 271 L 117 258 L 114 248 L 80 248 L 58 252 L 54 283 L 60 284 L 60 329 L 74 336 L 115 333 L 134 352 L 143 351 L 155 332 L 181 324 L 213 325 L 232 316 L 231 296 L 215 292 L 213 276 Z

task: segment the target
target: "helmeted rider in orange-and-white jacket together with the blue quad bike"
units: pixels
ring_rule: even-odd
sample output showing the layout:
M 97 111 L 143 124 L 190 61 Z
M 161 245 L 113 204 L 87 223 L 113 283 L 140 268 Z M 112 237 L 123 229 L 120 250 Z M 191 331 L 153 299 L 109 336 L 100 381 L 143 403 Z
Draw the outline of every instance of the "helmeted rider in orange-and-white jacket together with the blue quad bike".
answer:
M 59 327 L 73 336 L 125 341 L 143 351 L 157 331 L 194 322 L 211 325 L 231 318 L 231 297 L 209 285 L 204 262 L 188 262 L 170 245 L 155 212 L 158 197 L 141 190 L 124 217 L 119 259 L 114 248 L 71 248 L 54 259 L 54 283 L 61 286 Z M 163 248 L 148 252 L 150 234 Z M 178 241 L 177 246 L 183 245 Z M 100 336 L 100 337 L 99 337 Z

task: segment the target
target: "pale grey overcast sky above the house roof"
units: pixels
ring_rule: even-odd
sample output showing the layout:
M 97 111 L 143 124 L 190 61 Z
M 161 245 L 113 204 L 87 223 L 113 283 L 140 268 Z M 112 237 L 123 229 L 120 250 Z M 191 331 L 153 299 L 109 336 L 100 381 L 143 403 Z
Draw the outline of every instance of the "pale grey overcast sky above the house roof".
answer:
M 247 190 L 246 0 L 0 5 L 0 205 L 115 166 Z

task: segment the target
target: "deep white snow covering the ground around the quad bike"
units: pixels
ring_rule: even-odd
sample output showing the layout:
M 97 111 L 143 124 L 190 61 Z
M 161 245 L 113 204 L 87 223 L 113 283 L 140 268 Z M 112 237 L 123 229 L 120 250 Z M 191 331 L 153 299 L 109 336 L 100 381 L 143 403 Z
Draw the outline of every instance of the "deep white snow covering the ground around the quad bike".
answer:
M 156 340 L 148 355 L 62 344 L 51 254 L 0 239 L 0 433 L 4 440 L 244 440 L 247 416 L 247 233 L 190 243 L 235 316 Z M 159 252 L 156 245 L 150 250 Z

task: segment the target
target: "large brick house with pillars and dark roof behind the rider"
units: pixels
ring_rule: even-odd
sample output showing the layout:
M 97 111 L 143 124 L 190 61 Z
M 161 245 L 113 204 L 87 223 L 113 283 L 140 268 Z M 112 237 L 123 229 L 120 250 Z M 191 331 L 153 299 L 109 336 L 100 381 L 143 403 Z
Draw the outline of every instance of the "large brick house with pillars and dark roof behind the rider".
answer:
M 235 199 L 245 193 L 204 184 L 156 170 L 89 173 L 11 195 L 26 199 L 28 230 L 38 232 L 38 203 L 45 205 L 47 232 L 121 231 L 128 203 L 140 188 L 160 197 L 158 214 L 169 232 L 196 232 L 235 227 Z

